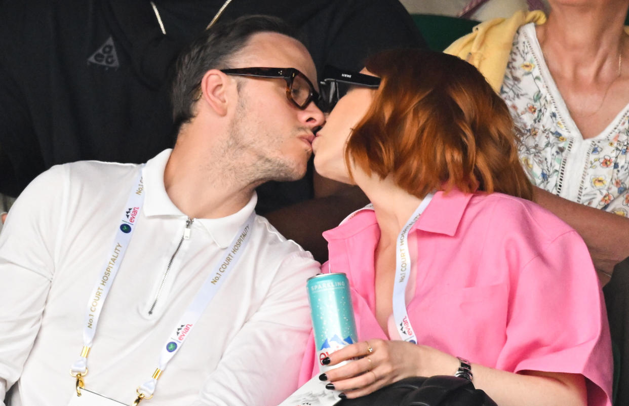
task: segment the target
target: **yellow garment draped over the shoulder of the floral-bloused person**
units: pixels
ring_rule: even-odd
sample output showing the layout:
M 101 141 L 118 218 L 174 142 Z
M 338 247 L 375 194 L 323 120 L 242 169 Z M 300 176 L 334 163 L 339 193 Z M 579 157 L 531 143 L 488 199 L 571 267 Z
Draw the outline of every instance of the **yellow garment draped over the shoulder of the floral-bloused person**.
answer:
M 474 31 L 454 41 L 445 53 L 456 55 L 474 65 L 498 92 L 513 47 L 513 37 L 521 26 L 546 22 L 542 11 L 517 11 L 509 18 L 494 18 L 474 27 Z

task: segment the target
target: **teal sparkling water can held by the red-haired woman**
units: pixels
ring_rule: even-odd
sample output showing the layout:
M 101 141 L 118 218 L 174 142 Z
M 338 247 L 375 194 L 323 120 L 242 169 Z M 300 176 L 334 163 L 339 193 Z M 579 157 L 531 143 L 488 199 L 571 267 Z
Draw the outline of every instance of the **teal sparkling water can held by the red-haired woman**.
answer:
M 306 287 L 319 370 L 325 372 L 345 365 L 349 361 L 326 366 L 321 360 L 358 340 L 347 276 L 345 273 L 320 273 L 308 278 Z

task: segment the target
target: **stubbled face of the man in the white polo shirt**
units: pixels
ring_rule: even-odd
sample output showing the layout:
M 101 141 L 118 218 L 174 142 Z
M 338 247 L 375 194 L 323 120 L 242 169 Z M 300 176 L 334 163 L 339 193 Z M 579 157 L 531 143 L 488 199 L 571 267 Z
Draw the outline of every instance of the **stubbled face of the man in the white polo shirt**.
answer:
M 288 36 L 258 33 L 248 41 L 230 68 L 295 68 L 316 84 L 308 50 Z M 238 77 L 238 106 L 231 120 L 233 146 L 242 148 L 243 162 L 252 163 L 259 180 L 297 180 L 306 173 L 312 153 L 313 128 L 325 121 L 314 102 L 301 110 L 286 97 L 284 79 Z

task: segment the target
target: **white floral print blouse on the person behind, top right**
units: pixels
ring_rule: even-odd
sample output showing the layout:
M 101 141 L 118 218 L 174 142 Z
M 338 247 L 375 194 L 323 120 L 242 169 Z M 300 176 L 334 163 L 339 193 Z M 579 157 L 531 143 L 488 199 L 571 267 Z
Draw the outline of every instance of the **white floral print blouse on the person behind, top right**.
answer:
M 533 23 L 515 35 L 500 96 L 520 132 L 520 161 L 535 185 L 629 217 L 629 106 L 584 140 L 550 76 Z

